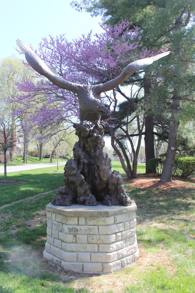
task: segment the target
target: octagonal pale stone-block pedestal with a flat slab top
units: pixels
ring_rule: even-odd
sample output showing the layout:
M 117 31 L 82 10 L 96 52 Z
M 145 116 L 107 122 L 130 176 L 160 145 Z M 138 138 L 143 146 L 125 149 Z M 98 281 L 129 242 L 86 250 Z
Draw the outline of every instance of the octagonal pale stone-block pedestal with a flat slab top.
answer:
M 47 210 L 44 258 L 64 270 L 109 273 L 139 259 L 132 205 L 57 206 Z

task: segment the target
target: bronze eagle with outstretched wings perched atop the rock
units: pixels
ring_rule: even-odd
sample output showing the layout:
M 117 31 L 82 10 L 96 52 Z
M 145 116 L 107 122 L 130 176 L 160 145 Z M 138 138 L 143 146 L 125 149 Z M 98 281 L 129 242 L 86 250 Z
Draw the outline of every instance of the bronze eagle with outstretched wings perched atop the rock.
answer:
M 96 121 L 98 122 L 101 115 L 109 116 L 108 109 L 100 99 L 100 94 L 106 91 L 110 91 L 121 84 L 127 77 L 132 75 L 135 71 L 152 64 L 154 61 L 168 55 L 170 51 L 158 54 L 150 58 L 144 58 L 134 61 L 127 65 L 122 73 L 104 84 L 98 85 L 83 85 L 73 83 L 71 81 L 63 79 L 55 69 L 47 65 L 41 58 L 33 52 L 33 50 L 24 42 L 17 40 L 17 45 L 20 50 L 25 54 L 26 61 L 30 66 L 39 74 L 44 75 L 53 84 L 59 88 L 66 89 L 74 92 L 79 101 L 80 108 L 80 123 L 83 124 L 87 118 L 88 113 L 96 114 Z

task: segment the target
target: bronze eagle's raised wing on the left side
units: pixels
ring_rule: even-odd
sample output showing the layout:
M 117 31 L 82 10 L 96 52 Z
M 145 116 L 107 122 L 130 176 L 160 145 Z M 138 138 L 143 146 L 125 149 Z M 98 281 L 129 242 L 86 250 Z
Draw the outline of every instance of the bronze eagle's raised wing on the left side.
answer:
M 60 88 L 64 88 L 69 91 L 73 91 L 77 93 L 77 86 L 79 84 L 75 84 L 71 81 L 67 81 L 63 79 L 55 69 L 47 65 L 37 54 L 33 52 L 33 50 L 26 45 L 23 41 L 17 40 L 16 44 L 20 48 L 20 50 L 25 54 L 26 61 L 30 66 L 37 71 L 39 74 L 44 75 L 47 79 L 49 79 L 53 84 Z

